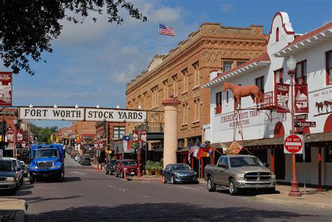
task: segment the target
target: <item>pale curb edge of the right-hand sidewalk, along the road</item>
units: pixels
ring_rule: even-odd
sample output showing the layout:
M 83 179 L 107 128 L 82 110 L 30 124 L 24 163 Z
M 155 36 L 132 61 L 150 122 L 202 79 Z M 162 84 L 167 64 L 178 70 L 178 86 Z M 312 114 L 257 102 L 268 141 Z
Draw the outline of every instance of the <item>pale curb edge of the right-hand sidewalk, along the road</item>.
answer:
M 261 195 L 256 195 L 254 198 L 257 201 L 270 202 L 270 203 L 274 203 L 274 204 L 282 204 L 282 205 L 294 205 L 294 204 L 296 204 L 299 207 L 317 207 L 317 208 L 332 209 L 332 204 L 326 204 L 326 203 L 298 202 L 298 201 L 291 201 L 291 200 L 280 200 L 280 199 L 274 199 L 274 198 L 270 198 L 270 197 L 263 197 Z

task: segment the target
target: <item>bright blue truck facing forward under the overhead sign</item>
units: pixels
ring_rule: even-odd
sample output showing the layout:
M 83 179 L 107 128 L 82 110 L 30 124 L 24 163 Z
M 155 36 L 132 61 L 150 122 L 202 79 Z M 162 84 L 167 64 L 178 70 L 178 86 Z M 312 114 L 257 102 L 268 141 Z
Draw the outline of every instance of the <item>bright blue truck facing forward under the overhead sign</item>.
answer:
M 36 179 L 64 179 L 64 151 L 62 144 L 34 144 L 30 148 L 29 181 Z

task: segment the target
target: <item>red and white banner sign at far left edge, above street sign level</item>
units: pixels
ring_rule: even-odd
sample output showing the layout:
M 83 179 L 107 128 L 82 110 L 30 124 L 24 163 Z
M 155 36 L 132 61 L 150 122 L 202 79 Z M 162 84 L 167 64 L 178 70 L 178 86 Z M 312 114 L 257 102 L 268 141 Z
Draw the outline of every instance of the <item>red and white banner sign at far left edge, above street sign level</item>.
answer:
M 9 71 L 0 71 L 0 106 L 12 105 L 12 73 Z

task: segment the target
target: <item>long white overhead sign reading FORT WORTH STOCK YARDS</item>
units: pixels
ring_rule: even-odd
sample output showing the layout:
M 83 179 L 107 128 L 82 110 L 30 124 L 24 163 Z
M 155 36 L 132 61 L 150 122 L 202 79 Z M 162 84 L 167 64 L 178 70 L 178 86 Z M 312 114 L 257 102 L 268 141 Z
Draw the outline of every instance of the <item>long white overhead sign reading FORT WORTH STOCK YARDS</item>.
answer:
M 20 107 L 21 120 L 69 120 L 136 122 L 146 121 L 146 111 L 69 107 Z

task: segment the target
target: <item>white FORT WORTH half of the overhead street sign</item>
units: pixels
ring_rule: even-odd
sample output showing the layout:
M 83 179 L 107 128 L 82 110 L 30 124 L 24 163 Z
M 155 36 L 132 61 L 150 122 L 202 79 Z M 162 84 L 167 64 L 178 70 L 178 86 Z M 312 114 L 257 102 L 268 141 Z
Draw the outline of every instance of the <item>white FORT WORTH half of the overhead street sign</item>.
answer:
M 83 108 L 20 107 L 21 120 L 84 120 Z

